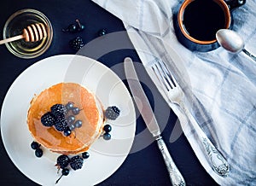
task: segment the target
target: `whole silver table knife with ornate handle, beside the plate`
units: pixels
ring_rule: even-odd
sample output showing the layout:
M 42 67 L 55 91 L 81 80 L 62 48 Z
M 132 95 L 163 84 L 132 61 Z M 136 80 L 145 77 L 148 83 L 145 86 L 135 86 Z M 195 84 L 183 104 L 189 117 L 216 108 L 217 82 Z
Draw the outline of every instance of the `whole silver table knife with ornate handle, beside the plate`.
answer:
M 163 138 L 160 136 L 160 128 L 154 117 L 153 110 L 148 102 L 148 98 L 143 91 L 143 87 L 137 78 L 137 73 L 135 71 L 135 67 L 133 66 L 133 62 L 130 57 L 125 58 L 125 75 L 127 82 L 129 84 L 131 94 L 135 98 L 134 101 L 137 104 L 137 108 L 139 108 L 140 113 L 148 127 L 148 130 L 152 133 L 153 137 L 158 144 L 160 152 L 165 160 L 167 171 L 169 172 L 169 176 L 171 179 L 172 185 L 186 185 L 184 178 L 180 171 L 178 171 L 177 166 L 172 160 L 171 154 L 166 147 L 166 143 Z

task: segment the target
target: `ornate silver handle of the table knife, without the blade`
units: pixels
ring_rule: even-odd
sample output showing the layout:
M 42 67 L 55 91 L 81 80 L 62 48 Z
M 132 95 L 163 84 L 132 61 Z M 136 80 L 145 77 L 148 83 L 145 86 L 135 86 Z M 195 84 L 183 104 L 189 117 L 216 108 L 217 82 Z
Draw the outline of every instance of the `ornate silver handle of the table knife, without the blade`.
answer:
M 156 142 L 158 145 L 158 148 L 161 151 L 161 154 L 163 155 L 163 158 L 166 163 L 166 168 L 169 172 L 171 183 L 173 186 L 185 186 L 186 183 L 184 181 L 184 178 L 180 171 L 178 171 L 177 166 L 175 165 L 174 161 L 172 160 L 171 154 L 168 151 L 168 148 L 166 147 L 166 143 L 162 139 L 161 136 L 156 137 Z

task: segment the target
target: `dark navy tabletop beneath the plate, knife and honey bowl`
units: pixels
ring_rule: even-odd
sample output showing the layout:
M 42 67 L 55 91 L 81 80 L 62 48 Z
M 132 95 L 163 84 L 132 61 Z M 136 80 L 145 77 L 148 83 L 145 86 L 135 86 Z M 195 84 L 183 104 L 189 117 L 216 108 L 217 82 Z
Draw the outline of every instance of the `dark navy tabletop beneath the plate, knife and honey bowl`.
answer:
M 54 29 L 53 42 L 44 55 L 30 60 L 18 58 L 12 55 L 5 45 L 0 45 L 1 106 L 10 85 L 27 67 L 52 55 L 76 54 L 76 51 L 69 47 L 68 42 L 77 36 L 84 38 L 84 43 L 88 44 L 99 37 L 98 32 L 101 29 L 106 29 L 108 33 L 123 31 L 121 40 L 117 38 L 111 43 L 113 47 L 111 52 L 105 52 L 102 55 L 91 55 L 90 51 L 95 49 L 88 49 L 88 52 L 85 52 L 84 55 L 102 62 L 107 67 L 113 67 L 116 64 L 122 63 L 126 56 L 130 56 L 134 61 L 140 62 L 137 52 L 132 49 L 131 41 L 125 34 L 122 21 L 90 0 L 9 0 L 1 5 L 0 27 L 3 28 L 5 21 L 15 11 L 27 8 L 38 9 L 49 18 Z M 61 31 L 62 28 L 66 28 L 70 23 L 75 22 L 76 19 L 79 19 L 84 24 L 84 32 L 72 34 Z M 0 35 L 3 36 L 3 31 L 0 32 Z M 97 51 L 101 52 L 108 47 L 108 44 L 104 44 L 103 41 L 94 46 Z M 114 49 L 114 46 L 117 46 L 116 49 Z M 124 77 L 125 74 L 124 69 L 116 70 L 115 73 L 120 77 Z M 154 107 L 154 102 L 160 102 L 162 105 L 161 109 L 155 110 L 154 113 L 163 131 L 162 136 L 166 140 L 167 148 L 172 154 L 172 158 L 176 162 L 178 169 L 182 172 L 187 185 L 216 185 L 201 166 L 199 160 L 197 160 L 187 138 L 183 134 L 174 142 L 170 142 L 172 129 L 174 125 L 178 125 L 177 116 L 167 106 L 166 102 L 164 102 L 160 93 L 155 89 L 154 84 L 149 80 L 147 73 L 143 69 L 140 69 L 139 77 L 148 79 L 147 86 L 143 86 L 143 88 L 152 106 Z M 128 88 L 125 80 L 124 83 Z M 166 123 L 166 121 L 161 121 L 162 116 L 166 114 L 167 116 L 169 115 L 167 125 L 162 124 Z M 127 156 L 123 165 L 111 177 L 108 177 L 108 179 L 99 183 L 99 185 L 171 185 L 164 160 L 156 142 L 152 142 L 138 152 L 135 150 L 137 145 L 143 140 L 138 134 L 146 130 L 145 128 L 145 123 L 137 112 L 137 136 L 131 148 L 132 153 Z M 148 137 L 150 137 L 149 132 Z M 37 185 L 37 183 L 33 183 L 15 167 L 3 147 L 2 140 L 0 141 L 0 155 L 0 185 Z M 100 167 L 96 167 L 96 171 L 99 170 Z

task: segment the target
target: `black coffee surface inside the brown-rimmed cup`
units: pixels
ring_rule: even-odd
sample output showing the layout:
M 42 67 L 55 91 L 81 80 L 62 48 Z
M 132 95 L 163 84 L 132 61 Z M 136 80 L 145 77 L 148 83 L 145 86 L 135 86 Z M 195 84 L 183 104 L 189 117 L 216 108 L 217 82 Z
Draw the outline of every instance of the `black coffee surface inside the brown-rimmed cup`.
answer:
M 183 26 L 192 38 L 211 41 L 224 25 L 224 10 L 213 0 L 195 0 L 184 10 Z

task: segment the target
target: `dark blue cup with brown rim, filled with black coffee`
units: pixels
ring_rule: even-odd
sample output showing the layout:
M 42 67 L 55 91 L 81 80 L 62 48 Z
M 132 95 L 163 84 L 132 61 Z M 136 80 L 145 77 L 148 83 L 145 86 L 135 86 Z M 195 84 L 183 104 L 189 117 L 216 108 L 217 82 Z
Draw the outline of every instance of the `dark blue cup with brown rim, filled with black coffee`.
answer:
M 216 32 L 230 29 L 230 12 L 246 0 L 184 0 L 174 9 L 173 26 L 178 41 L 193 51 L 217 49 Z

